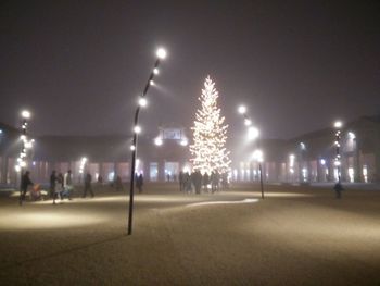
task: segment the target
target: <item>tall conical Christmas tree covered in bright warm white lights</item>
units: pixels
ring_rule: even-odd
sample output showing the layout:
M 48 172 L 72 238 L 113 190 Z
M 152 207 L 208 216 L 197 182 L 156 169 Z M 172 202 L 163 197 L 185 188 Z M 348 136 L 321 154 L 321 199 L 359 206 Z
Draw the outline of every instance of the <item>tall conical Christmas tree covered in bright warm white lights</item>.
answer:
M 190 152 L 193 169 L 201 173 L 218 171 L 219 173 L 229 170 L 229 151 L 225 145 L 227 139 L 228 125 L 224 125 L 225 117 L 220 116 L 220 109 L 217 108 L 218 91 L 215 83 L 207 76 L 204 82 L 204 89 L 199 100 L 202 108 L 195 113 L 193 130 L 193 145 Z

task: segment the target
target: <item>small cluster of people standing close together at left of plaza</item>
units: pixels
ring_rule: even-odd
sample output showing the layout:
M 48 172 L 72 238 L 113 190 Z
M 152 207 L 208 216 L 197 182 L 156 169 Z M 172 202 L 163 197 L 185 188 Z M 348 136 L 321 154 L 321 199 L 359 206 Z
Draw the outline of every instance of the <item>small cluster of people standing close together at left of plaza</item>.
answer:
M 63 200 L 67 198 L 72 199 L 71 195 L 74 190 L 73 175 L 72 171 L 68 170 L 64 175 L 62 173 L 56 174 L 56 171 L 53 170 L 50 175 L 50 197 L 53 199 L 53 204 L 55 200 L 60 198 Z

